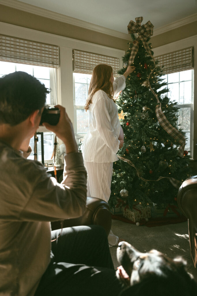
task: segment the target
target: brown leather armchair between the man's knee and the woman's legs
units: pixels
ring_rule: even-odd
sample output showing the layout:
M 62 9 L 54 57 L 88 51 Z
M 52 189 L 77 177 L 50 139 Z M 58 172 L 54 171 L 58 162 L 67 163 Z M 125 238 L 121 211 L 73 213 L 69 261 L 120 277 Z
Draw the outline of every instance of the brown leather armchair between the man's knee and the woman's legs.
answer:
M 63 227 L 79 225 L 100 225 L 103 226 L 107 236 L 111 229 L 111 213 L 107 202 L 96 197 L 87 197 L 86 210 L 83 216 L 74 219 L 64 220 Z M 51 229 L 60 229 L 61 222 L 51 222 Z

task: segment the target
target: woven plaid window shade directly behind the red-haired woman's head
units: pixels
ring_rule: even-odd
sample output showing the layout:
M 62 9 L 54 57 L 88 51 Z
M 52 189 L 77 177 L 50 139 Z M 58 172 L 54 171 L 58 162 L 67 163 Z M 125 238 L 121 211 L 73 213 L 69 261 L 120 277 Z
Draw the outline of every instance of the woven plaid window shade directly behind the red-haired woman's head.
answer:
M 110 65 L 113 69 L 114 76 L 118 76 L 119 59 L 108 57 L 92 52 L 83 52 L 81 50 L 73 50 L 73 72 L 92 74 L 94 67 L 98 64 Z

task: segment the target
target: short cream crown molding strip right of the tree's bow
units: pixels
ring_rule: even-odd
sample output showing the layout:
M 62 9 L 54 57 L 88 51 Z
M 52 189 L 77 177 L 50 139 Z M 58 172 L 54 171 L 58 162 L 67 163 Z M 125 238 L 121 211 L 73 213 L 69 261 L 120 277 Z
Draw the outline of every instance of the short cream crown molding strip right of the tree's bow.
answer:
M 165 33 L 167 31 L 170 31 L 170 30 L 173 30 L 173 29 L 177 29 L 177 28 L 179 28 L 181 26 L 187 25 L 187 24 L 189 24 L 191 22 L 195 22 L 195 21 L 197 21 L 197 13 L 195 13 L 193 15 L 190 15 L 188 17 L 184 17 L 184 18 L 182 18 L 182 19 L 180 19 L 178 21 L 171 22 L 170 24 L 165 25 L 163 27 L 160 27 L 158 29 L 155 29 L 154 33 L 153 33 L 153 36 Z

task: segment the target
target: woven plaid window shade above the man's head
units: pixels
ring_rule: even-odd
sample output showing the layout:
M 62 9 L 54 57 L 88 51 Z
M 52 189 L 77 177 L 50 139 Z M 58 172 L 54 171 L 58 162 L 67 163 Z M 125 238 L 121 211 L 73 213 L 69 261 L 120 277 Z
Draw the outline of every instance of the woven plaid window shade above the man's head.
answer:
M 0 60 L 44 67 L 59 67 L 59 47 L 0 35 Z

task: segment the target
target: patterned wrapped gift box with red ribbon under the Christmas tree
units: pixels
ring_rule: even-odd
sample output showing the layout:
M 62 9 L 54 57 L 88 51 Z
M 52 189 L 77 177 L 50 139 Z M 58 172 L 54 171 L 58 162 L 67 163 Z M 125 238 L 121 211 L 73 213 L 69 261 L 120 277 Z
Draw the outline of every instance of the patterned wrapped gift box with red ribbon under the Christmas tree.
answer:
M 123 206 L 123 216 L 133 222 L 139 222 L 142 218 L 151 217 L 151 208 L 143 207 L 140 204 L 133 205 L 133 209 L 129 210 L 128 206 Z

